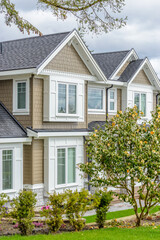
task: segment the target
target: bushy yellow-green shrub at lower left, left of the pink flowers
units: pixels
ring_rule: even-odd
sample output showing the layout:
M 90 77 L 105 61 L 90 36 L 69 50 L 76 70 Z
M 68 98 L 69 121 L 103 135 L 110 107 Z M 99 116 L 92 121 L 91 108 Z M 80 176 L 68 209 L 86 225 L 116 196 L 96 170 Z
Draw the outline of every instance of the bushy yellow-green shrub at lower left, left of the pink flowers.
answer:
M 17 198 L 13 199 L 11 203 L 11 216 L 18 222 L 18 228 L 21 235 L 28 235 L 31 233 L 34 225 L 32 218 L 35 216 L 34 207 L 36 205 L 36 194 L 32 191 L 23 190 L 19 193 Z

